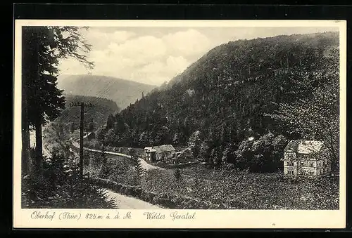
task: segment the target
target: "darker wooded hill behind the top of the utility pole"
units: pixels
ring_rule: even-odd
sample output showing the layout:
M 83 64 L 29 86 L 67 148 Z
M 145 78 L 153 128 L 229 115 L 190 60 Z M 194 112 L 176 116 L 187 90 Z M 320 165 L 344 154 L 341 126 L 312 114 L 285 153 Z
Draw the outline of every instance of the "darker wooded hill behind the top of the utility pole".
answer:
M 65 94 L 65 110 L 55 121 L 65 125 L 71 131 L 80 127 L 80 107 L 70 107 L 70 103 L 73 102 L 92 103 L 94 105 L 94 107 L 84 108 L 84 124 L 86 124 L 87 129 L 90 127 L 90 131 L 105 124 L 109 114 L 115 114 L 120 110 L 113 100 Z

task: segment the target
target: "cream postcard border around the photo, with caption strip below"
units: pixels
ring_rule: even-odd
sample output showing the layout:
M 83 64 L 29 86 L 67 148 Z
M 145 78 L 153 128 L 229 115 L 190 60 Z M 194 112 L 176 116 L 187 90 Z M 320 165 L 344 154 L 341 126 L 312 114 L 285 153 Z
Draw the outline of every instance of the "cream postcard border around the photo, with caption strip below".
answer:
M 339 27 L 340 37 L 340 183 L 339 210 L 161 210 L 165 219 L 147 220 L 147 210 L 21 209 L 21 27 L 74 25 L 90 27 Z M 13 114 L 13 227 L 15 228 L 344 228 L 346 226 L 346 21 L 345 20 L 15 20 L 15 74 Z M 37 219 L 34 211 L 55 219 Z M 63 212 L 80 219 L 60 220 Z M 170 213 L 196 212 L 193 220 L 172 220 Z M 131 218 L 123 219 L 128 212 Z M 159 212 L 159 211 L 158 211 Z M 84 219 L 87 213 L 101 220 Z M 120 219 L 105 219 L 119 213 Z M 31 218 L 32 216 L 32 218 Z M 33 218 L 34 217 L 34 218 Z

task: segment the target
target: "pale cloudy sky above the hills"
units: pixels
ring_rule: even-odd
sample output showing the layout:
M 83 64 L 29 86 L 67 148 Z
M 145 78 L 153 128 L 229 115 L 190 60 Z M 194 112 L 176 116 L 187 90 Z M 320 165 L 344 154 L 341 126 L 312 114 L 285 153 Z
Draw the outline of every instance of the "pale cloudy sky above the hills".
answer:
M 211 48 L 237 39 L 338 31 L 334 27 L 90 27 L 87 70 L 73 58 L 61 60 L 61 74 L 94 74 L 159 86 L 182 73 Z

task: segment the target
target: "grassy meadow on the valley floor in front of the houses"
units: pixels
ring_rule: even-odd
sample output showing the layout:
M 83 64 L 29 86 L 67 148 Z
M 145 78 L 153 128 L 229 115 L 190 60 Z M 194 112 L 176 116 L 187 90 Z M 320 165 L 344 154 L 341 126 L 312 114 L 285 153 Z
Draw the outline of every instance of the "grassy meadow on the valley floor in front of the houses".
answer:
M 339 209 L 339 177 L 292 180 L 282 172 L 250 173 L 197 164 L 179 168 L 180 176 L 175 175 L 176 169 L 151 169 L 138 178 L 130 159 L 106 157 L 106 166 L 92 160 L 90 168 L 96 176 L 141 185 L 154 194 L 192 198 L 227 209 Z

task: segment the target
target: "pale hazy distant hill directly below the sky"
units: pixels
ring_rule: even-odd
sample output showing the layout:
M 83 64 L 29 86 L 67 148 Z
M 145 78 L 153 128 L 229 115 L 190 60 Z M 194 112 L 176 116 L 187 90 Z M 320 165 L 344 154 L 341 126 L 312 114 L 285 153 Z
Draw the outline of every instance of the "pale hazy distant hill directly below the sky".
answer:
M 100 75 L 63 75 L 58 79 L 58 88 L 64 93 L 102 97 L 115 101 L 125 108 L 149 93 L 156 86 Z

